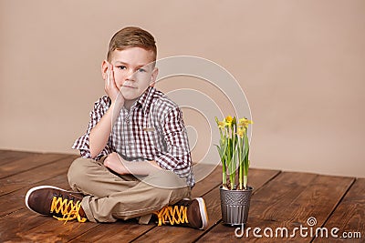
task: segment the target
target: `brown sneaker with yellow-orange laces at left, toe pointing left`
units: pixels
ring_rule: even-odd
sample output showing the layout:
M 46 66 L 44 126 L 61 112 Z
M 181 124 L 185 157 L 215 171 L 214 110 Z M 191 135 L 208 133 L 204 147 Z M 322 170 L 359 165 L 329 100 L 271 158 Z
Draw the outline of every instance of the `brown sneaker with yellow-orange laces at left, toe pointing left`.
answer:
M 78 219 L 78 222 L 87 220 L 81 208 L 82 194 L 67 191 L 58 187 L 33 187 L 26 193 L 26 207 L 45 216 L 53 216 L 58 220 Z

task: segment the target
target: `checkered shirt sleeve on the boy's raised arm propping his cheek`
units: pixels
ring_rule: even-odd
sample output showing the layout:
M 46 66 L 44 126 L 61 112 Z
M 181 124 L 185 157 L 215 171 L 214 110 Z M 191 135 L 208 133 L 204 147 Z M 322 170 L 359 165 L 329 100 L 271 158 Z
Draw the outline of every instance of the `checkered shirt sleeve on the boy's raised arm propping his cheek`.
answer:
M 73 144 L 73 149 L 78 149 L 81 157 L 91 158 L 90 147 L 89 147 L 89 134 L 93 127 L 95 127 L 102 116 L 107 112 L 110 107 L 110 98 L 108 96 L 102 96 L 94 104 L 94 108 L 90 112 L 90 121 L 88 130 L 85 135 L 78 137 Z M 107 146 L 99 153 L 95 160 L 99 160 L 101 157 L 111 153 L 110 142 L 108 141 Z

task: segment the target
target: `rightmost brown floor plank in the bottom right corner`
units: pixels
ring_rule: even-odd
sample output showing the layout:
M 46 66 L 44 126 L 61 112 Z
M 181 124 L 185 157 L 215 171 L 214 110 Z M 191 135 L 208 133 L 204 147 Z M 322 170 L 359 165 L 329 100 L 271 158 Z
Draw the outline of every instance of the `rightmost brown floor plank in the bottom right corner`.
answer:
M 365 178 L 360 178 L 349 188 L 346 196 L 324 225 L 324 228 L 328 229 L 330 242 L 364 242 L 364 216 Z M 339 232 L 334 232 L 335 237 L 330 234 L 332 228 L 339 228 Z M 315 238 L 314 242 L 328 242 L 328 238 Z

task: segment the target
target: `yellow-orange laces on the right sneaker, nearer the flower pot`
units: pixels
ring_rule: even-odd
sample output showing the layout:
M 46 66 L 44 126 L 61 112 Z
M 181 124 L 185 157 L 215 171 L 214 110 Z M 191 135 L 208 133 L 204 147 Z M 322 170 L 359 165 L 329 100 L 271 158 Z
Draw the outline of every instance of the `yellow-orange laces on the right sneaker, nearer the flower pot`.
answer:
M 161 210 L 154 212 L 154 214 L 159 218 L 158 226 L 162 226 L 162 224 L 165 225 L 167 223 L 171 225 L 189 223 L 187 208 L 184 206 L 165 206 Z

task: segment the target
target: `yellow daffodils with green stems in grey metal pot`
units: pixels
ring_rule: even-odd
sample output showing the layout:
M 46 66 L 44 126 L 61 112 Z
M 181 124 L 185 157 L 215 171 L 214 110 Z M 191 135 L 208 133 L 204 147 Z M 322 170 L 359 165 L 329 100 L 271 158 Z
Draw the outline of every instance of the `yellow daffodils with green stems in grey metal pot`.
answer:
M 235 116 L 226 116 L 223 121 L 215 117 L 215 121 L 220 132 L 216 147 L 223 172 L 220 187 L 223 223 L 229 226 L 245 225 L 253 190 L 253 187 L 247 186 L 250 165 L 247 128 L 253 122 L 245 117 L 237 120 Z

